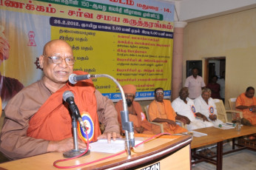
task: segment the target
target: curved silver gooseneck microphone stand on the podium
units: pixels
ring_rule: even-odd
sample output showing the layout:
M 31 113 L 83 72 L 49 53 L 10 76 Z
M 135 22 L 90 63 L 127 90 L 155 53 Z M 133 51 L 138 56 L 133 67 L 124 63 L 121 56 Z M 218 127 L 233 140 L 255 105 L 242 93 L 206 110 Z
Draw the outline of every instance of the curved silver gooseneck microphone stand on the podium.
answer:
M 112 81 L 115 82 L 115 84 L 120 89 L 121 97 L 123 100 L 123 106 L 124 106 L 124 110 L 121 111 L 122 129 L 125 132 L 126 149 L 127 149 L 128 157 L 130 157 L 131 156 L 130 148 L 135 146 L 135 139 L 134 139 L 133 122 L 129 121 L 129 112 L 128 112 L 128 107 L 127 107 L 127 100 L 124 95 L 124 89 L 118 83 L 118 81 L 110 75 L 104 75 L 104 74 L 88 75 L 88 78 L 102 78 L 102 77 L 110 78 Z

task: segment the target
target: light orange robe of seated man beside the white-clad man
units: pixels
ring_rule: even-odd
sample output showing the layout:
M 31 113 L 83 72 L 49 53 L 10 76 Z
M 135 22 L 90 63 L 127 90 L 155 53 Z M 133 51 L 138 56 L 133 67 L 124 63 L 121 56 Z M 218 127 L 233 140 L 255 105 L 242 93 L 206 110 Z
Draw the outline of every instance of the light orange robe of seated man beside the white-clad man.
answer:
M 149 120 L 155 120 L 156 118 L 163 118 L 175 121 L 176 113 L 174 109 L 172 109 L 171 102 L 168 100 L 164 100 L 163 102 L 152 101 L 149 104 Z M 169 125 L 169 123 L 162 123 L 164 125 L 164 132 L 168 132 L 170 134 L 187 132 L 186 129 L 178 126 Z

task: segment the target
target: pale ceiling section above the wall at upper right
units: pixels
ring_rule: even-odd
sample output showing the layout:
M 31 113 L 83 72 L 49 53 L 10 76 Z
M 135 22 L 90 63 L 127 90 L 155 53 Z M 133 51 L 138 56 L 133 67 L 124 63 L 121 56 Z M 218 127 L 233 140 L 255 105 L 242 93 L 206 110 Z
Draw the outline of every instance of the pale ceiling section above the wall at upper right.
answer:
M 205 18 L 256 8 L 256 0 L 161 0 L 175 2 L 175 21 L 199 21 Z

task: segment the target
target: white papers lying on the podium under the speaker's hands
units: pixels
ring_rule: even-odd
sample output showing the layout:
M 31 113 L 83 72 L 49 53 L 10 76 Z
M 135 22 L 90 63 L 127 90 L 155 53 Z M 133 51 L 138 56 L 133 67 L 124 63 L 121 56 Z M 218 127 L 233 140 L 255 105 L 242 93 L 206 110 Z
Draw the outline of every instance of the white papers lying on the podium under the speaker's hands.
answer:
M 135 140 L 135 145 L 141 143 L 143 139 Z M 143 145 L 143 144 L 141 144 Z M 115 154 L 125 150 L 125 138 L 111 140 L 111 143 L 107 143 L 107 139 L 101 139 L 97 142 L 90 143 L 91 152 L 104 152 L 109 154 Z

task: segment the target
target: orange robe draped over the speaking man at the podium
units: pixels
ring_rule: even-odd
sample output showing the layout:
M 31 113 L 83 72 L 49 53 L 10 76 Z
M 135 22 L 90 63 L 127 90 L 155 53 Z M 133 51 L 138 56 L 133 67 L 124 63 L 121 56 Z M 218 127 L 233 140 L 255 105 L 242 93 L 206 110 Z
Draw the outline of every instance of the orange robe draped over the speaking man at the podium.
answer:
M 74 73 L 78 75 L 86 74 L 85 72 Z M 72 118 L 69 106 L 63 101 L 62 97 L 63 93 L 67 90 L 73 92 L 74 100 L 80 113 L 90 113 L 90 118 L 94 126 L 89 126 L 90 129 L 93 128 L 89 138 L 92 141 L 97 140 L 97 137 L 101 135 L 101 131 L 97 115 L 97 103 L 94 95 L 95 87 L 91 80 L 79 81 L 75 85 L 67 83 L 57 92 L 54 92 L 30 119 L 27 136 L 44 140 L 63 140 L 73 136 Z

